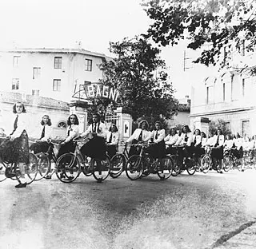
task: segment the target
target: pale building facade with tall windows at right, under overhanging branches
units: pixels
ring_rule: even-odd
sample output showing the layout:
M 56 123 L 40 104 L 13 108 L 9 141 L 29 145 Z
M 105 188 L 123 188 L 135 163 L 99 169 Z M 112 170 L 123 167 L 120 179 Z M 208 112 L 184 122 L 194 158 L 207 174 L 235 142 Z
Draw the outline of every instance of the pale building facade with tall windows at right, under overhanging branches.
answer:
M 222 120 L 235 134 L 256 134 L 256 77 L 246 70 L 254 53 L 234 51 L 229 69 L 198 65 L 191 91 L 190 126 L 208 134 L 208 121 Z M 196 73 L 196 72 L 195 72 Z

